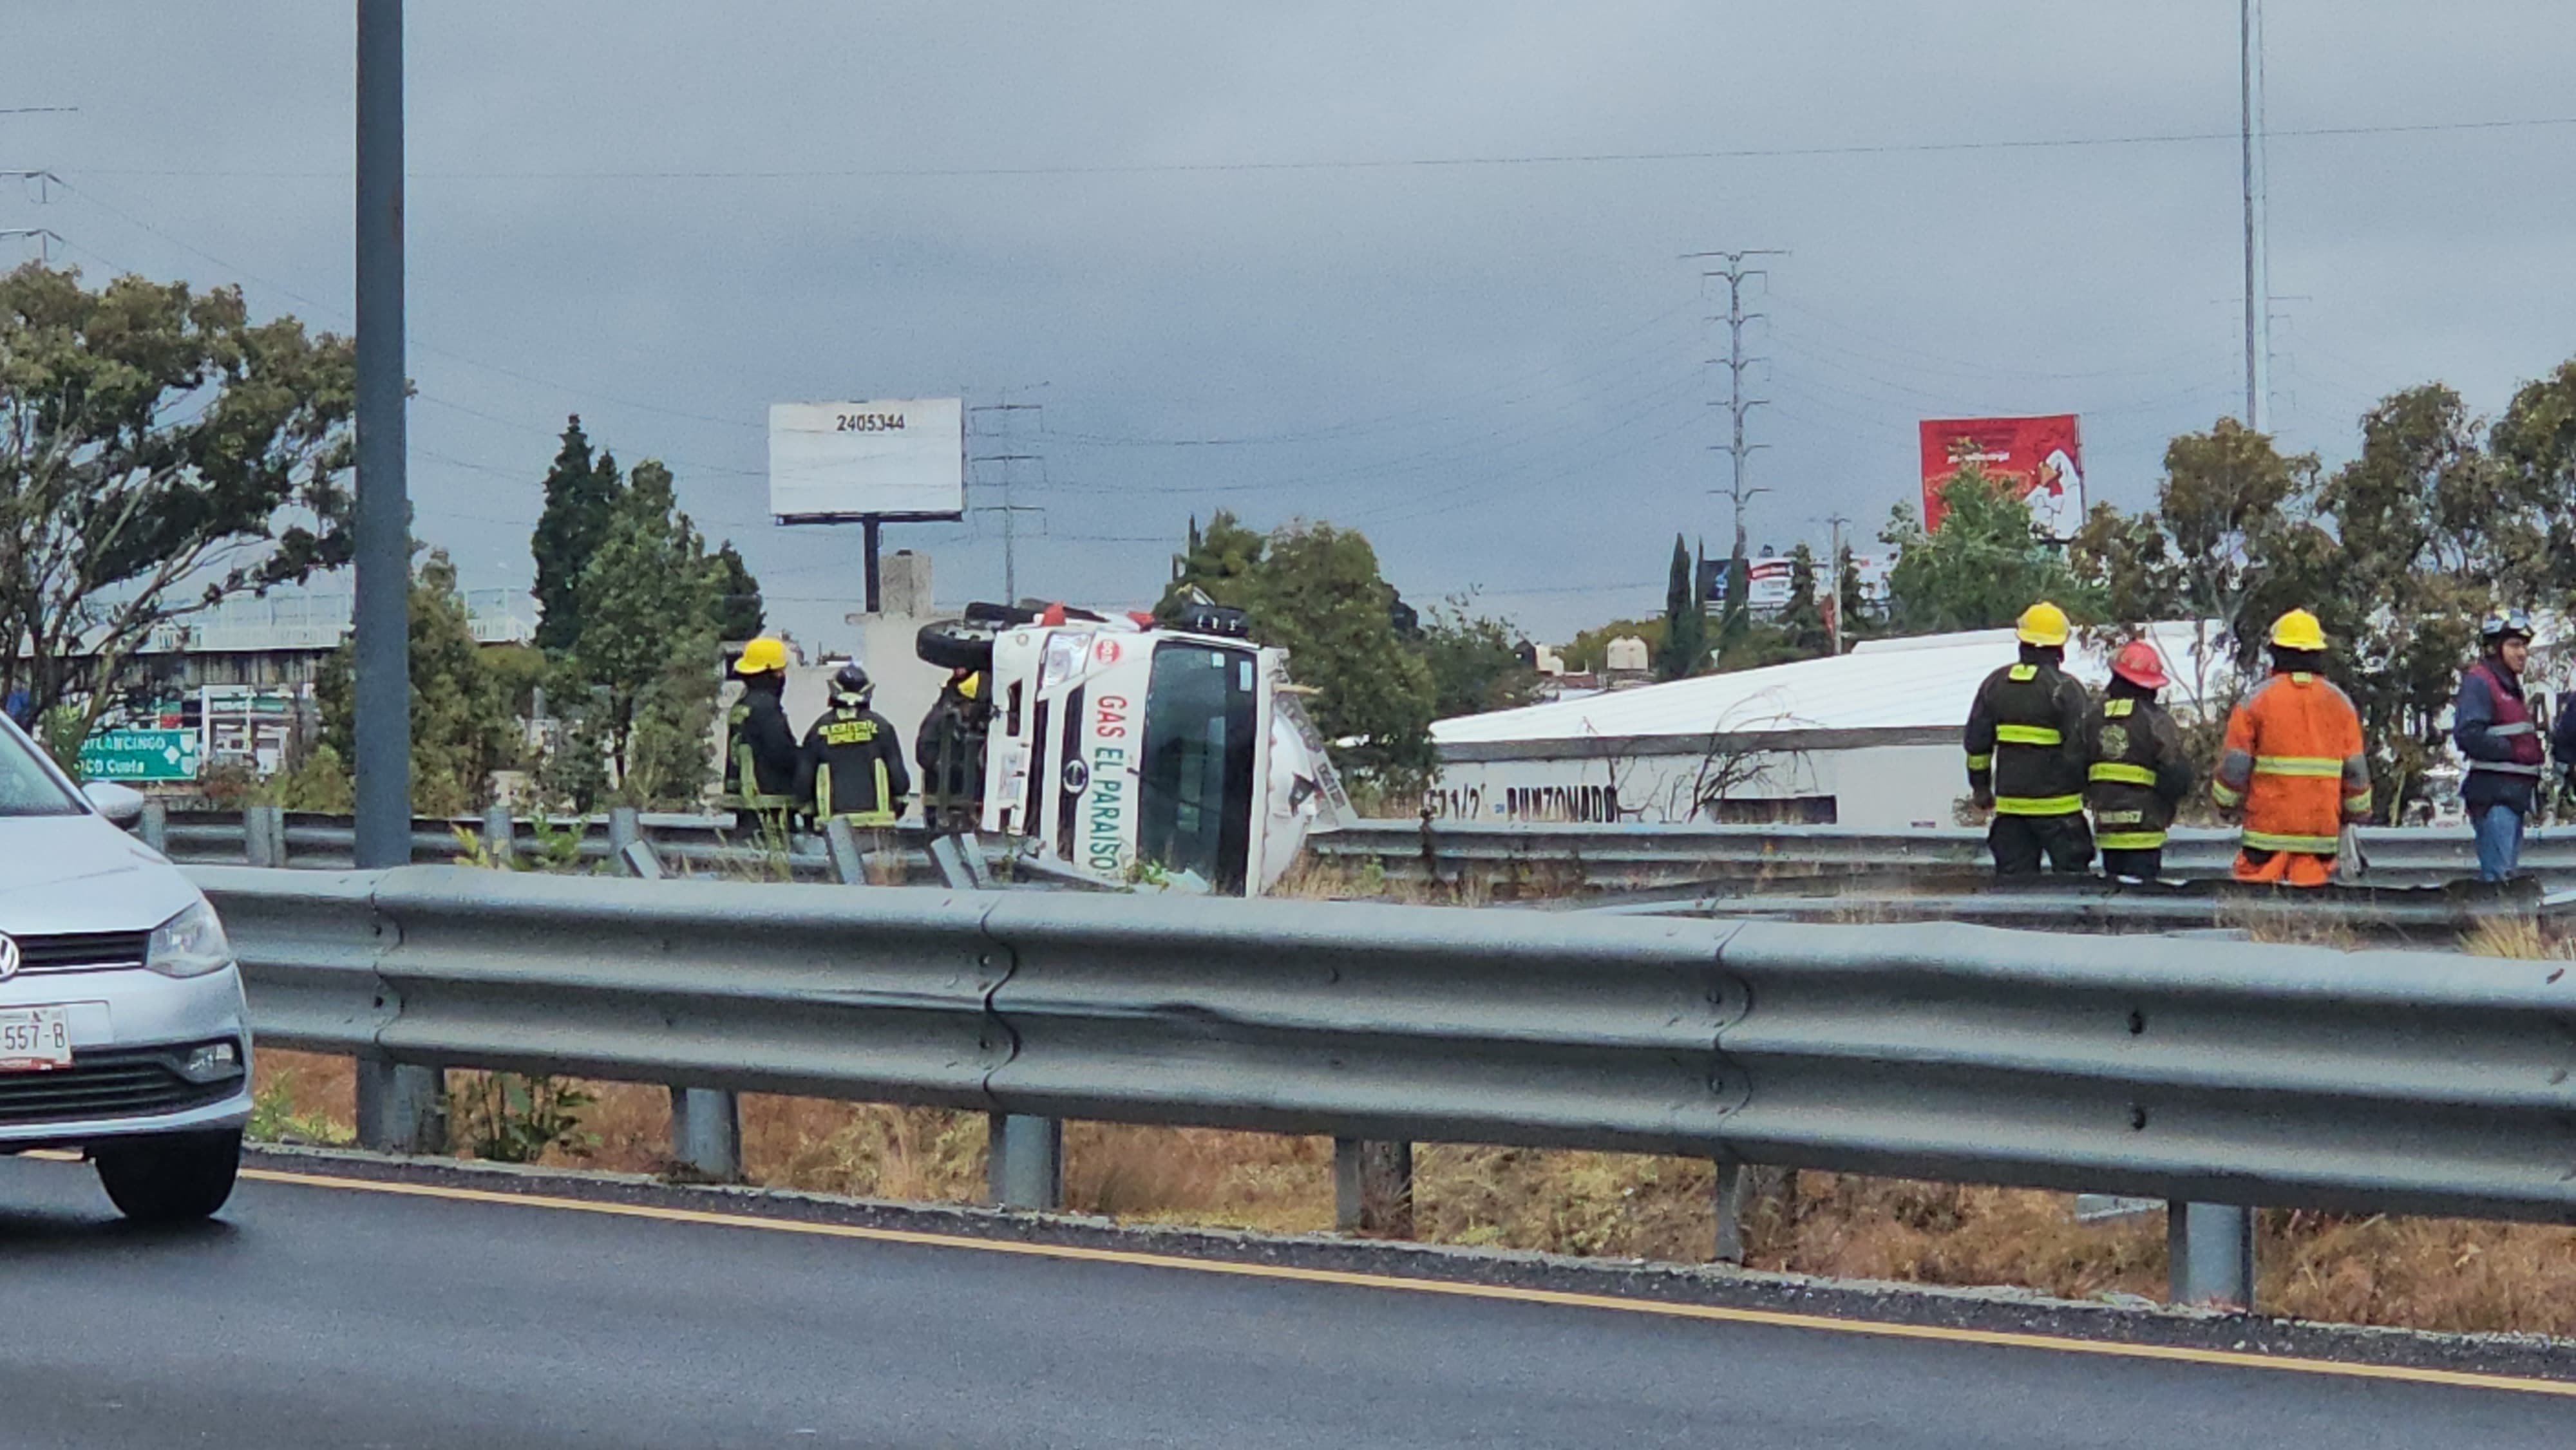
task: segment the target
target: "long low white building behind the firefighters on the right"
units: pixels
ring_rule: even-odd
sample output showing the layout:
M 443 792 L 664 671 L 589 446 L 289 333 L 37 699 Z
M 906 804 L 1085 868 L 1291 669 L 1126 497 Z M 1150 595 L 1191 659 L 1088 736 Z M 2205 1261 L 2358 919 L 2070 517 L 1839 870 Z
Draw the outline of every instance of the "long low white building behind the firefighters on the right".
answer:
M 2154 623 L 2192 711 L 2228 675 L 2215 626 Z M 1978 683 L 2017 657 L 2009 628 L 1878 639 L 1669 685 L 1432 724 L 1437 816 L 1510 822 L 1808 822 L 1947 827 L 1968 793 L 1960 729 Z M 2110 652 L 2081 636 L 2069 672 L 2099 688 Z

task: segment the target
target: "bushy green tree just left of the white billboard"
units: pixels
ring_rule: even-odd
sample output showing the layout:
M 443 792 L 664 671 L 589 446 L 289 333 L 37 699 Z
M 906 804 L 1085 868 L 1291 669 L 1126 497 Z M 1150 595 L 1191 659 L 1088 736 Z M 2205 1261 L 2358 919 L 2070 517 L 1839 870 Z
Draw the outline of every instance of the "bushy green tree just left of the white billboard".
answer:
M 636 464 L 582 569 L 569 657 L 592 737 L 634 804 L 690 804 L 706 786 L 716 592 L 716 564 L 677 510 L 670 469 Z M 639 731 L 649 752 L 636 749 Z

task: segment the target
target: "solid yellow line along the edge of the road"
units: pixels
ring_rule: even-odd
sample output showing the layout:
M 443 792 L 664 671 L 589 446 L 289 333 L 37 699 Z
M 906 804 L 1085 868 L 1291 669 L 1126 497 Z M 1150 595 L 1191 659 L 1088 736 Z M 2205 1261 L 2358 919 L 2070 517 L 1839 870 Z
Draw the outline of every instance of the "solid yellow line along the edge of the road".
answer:
M 706 1223 L 716 1229 L 760 1229 L 770 1234 L 806 1234 L 814 1239 L 866 1239 L 871 1244 L 917 1244 L 927 1249 L 966 1249 L 976 1254 L 1023 1254 L 1030 1259 L 1072 1259 L 1084 1265 L 1133 1265 L 1146 1270 L 1180 1270 L 1195 1275 L 1231 1275 L 1247 1280 L 1321 1283 L 1347 1288 L 1376 1288 L 1396 1293 L 1440 1293 L 1450 1298 L 1486 1298 L 1507 1303 L 1548 1303 L 1561 1308 L 1605 1308 L 1613 1313 L 1651 1313 L 1662 1319 L 1700 1319 L 1716 1324 L 1762 1324 L 1772 1329 L 1816 1329 L 1826 1334 L 1870 1334 L 1880 1339 L 1929 1339 L 1940 1344 L 1989 1344 L 2002 1350 L 2050 1350 L 2058 1355 L 2105 1355 L 2112 1360 L 2166 1360 L 2182 1365 L 2223 1365 L 2236 1370 L 2282 1370 L 2295 1375 L 2331 1375 L 2349 1380 L 2401 1380 L 2416 1386 L 2452 1386 L 2476 1391 L 2519 1391 L 2576 1398 L 2576 1383 L 2532 1380 L 2519 1375 L 2478 1375 L 2465 1370 L 2421 1370 L 2406 1365 L 2344 1365 L 2336 1360 L 2300 1360 L 2280 1355 L 2249 1355 L 2241 1350 L 2190 1350 L 2179 1344 L 2117 1344 L 2105 1339 L 2066 1339 L 2058 1334 L 2014 1334 L 2004 1329 L 1950 1329 L 1942 1324 L 1891 1324 L 1875 1319 L 1832 1319 L 1824 1313 L 1783 1313 L 1775 1308 L 1726 1308 L 1713 1303 L 1664 1303 L 1651 1298 L 1620 1298 L 1607 1293 L 1566 1293 L 1551 1288 L 1512 1288 L 1486 1283 L 1422 1280 L 1401 1275 L 1363 1275 L 1347 1270 L 1303 1270 L 1288 1265 L 1244 1265 L 1229 1259 L 1193 1259 L 1182 1254 L 1144 1254 L 1133 1249 L 1090 1249 L 1077 1244 L 1023 1244 L 1010 1239 L 976 1239 L 969 1234 L 922 1234 L 914 1229 L 863 1229 L 853 1223 L 804 1223 L 796 1218 L 760 1218 L 752 1213 L 711 1213 L 703 1208 L 659 1208 L 647 1203 L 592 1203 L 585 1198 L 551 1198 L 533 1192 L 495 1192 L 482 1187 L 443 1187 L 425 1182 L 384 1182 L 363 1177 L 301 1174 L 278 1169 L 242 1169 L 258 1182 L 283 1182 L 301 1187 L 337 1187 L 348 1192 L 392 1192 L 402 1198 L 443 1198 L 456 1203 L 497 1203 L 510 1208 L 556 1208 L 567 1213 L 603 1213 L 611 1218 L 647 1218 L 654 1223 Z

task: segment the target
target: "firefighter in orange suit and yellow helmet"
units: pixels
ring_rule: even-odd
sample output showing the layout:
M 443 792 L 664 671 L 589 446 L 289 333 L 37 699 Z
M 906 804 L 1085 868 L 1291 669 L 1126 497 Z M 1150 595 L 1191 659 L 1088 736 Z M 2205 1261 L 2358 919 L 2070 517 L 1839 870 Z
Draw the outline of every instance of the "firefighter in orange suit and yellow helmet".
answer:
M 2362 716 L 2321 675 L 2326 631 L 2308 610 L 2272 623 L 2272 677 L 2228 716 L 2210 796 L 2244 822 L 2236 881 L 2324 886 L 2342 829 L 2370 819 Z

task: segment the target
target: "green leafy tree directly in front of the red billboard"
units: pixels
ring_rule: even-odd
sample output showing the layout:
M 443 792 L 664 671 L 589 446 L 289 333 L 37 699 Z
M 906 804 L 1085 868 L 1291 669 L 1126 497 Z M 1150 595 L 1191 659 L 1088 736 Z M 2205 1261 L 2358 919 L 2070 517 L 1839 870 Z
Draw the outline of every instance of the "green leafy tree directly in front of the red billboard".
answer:
M 1896 505 L 1878 536 L 1896 549 L 1888 569 L 1888 628 L 1947 634 L 2012 623 L 2032 600 L 2056 600 L 2074 618 L 2099 618 L 2094 590 L 2030 533 L 2030 505 L 1963 461 L 1942 487 L 1940 528 L 1924 531 L 1911 505 Z

